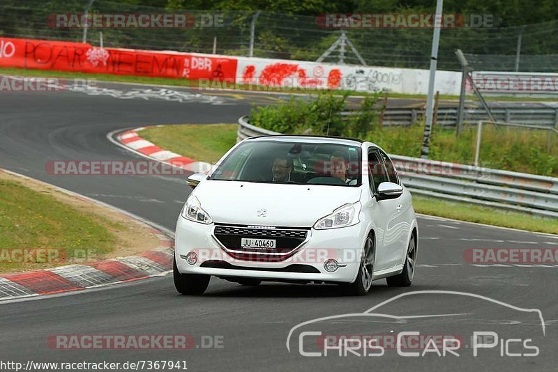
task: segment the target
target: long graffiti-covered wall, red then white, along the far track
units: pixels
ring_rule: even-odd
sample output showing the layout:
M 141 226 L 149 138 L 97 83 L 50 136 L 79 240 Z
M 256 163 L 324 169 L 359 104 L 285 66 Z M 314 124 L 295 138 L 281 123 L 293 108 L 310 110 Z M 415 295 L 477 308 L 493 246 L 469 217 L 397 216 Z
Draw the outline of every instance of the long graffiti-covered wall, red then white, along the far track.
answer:
M 0 38 L 0 67 L 198 79 L 199 88 L 236 83 L 273 88 L 324 88 L 426 94 L 428 70 L 334 65 L 172 51 L 100 48 L 81 42 Z M 435 89 L 458 95 L 459 72 L 438 71 Z M 211 83 L 211 84 L 209 84 Z

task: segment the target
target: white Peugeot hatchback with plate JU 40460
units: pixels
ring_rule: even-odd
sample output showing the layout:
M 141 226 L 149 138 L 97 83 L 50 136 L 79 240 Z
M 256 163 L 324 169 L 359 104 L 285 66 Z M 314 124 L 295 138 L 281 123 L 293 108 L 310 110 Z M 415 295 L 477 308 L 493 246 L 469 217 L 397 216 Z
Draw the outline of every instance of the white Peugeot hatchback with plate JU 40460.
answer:
M 188 185 L 194 190 L 176 223 L 179 293 L 204 293 L 211 275 L 243 285 L 335 283 L 354 295 L 381 278 L 412 284 L 412 197 L 375 144 L 253 137 Z

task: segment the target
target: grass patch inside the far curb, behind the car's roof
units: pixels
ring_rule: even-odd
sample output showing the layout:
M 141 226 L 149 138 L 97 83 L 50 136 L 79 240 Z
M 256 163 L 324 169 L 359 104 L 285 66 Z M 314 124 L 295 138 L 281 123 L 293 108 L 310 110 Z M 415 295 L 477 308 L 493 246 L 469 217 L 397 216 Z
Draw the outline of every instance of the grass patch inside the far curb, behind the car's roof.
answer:
M 142 130 L 140 135 L 165 150 L 214 163 L 236 144 L 236 124 L 164 125 Z

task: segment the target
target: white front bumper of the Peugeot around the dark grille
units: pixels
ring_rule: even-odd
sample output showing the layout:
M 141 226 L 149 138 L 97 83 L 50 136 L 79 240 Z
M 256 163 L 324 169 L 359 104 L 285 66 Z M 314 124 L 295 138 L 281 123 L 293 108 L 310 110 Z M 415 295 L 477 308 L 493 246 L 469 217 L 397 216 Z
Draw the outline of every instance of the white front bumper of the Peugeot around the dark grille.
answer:
M 179 272 L 278 281 L 352 283 L 359 272 L 361 251 L 368 233 L 363 224 L 330 230 L 312 228 L 308 239 L 294 255 L 285 261 L 266 262 L 244 261 L 229 256 L 212 231 L 213 224 L 199 224 L 179 217 L 174 242 Z M 197 254 L 194 265 L 186 261 L 190 251 Z M 326 271 L 324 263 L 330 259 L 337 261 L 341 267 L 334 272 Z M 215 267 L 213 263 L 220 263 L 220 267 Z

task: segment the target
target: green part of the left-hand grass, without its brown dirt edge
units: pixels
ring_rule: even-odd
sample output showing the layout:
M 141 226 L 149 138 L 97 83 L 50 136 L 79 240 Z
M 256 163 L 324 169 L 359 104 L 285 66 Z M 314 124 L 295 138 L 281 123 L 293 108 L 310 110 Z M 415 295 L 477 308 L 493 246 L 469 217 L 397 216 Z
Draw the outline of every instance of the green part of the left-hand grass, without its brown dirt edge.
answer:
M 54 196 L 0 180 L 0 249 L 61 249 L 67 258 L 79 256 L 77 249 L 89 249 L 89 254 L 103 255 L 116 243 L 116 236 L 106 228 L 109 224 Z M 52 266 L 43 263 L 0 262 L 0 271 Z

